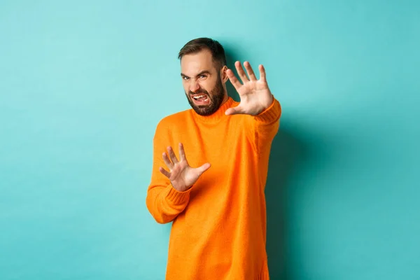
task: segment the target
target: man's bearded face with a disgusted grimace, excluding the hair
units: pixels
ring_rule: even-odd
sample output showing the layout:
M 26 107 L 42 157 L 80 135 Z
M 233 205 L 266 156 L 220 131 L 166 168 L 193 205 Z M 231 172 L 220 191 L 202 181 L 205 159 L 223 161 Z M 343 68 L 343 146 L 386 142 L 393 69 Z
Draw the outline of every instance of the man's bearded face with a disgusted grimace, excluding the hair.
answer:
M 209 116 L 218 110 L 225 99 L 226 80 L 222 80 L 209 50 L 184 55 L 181 78 L 188 103 L 196 113 Z

